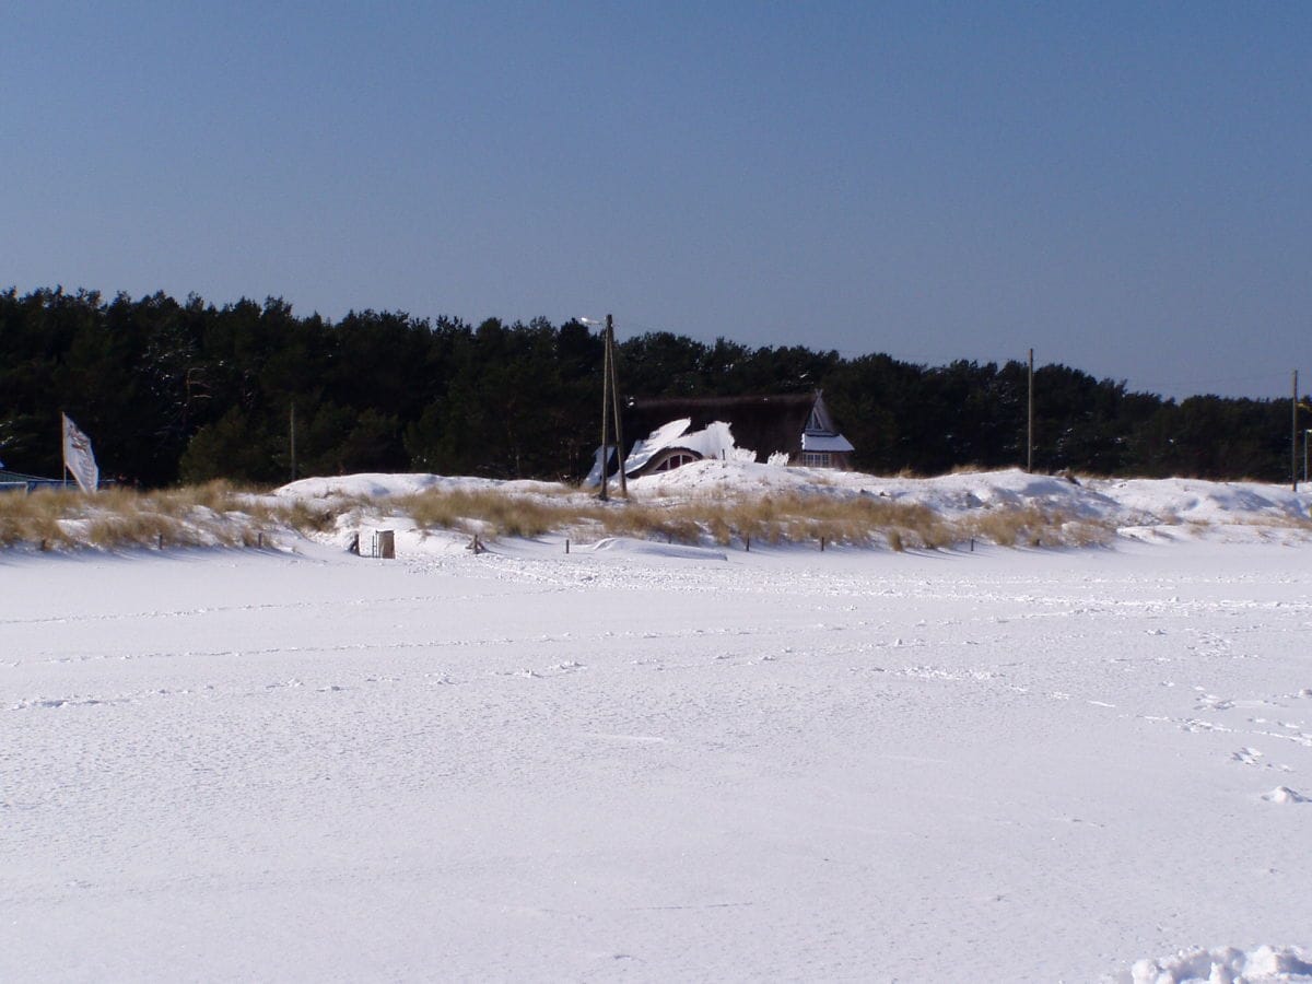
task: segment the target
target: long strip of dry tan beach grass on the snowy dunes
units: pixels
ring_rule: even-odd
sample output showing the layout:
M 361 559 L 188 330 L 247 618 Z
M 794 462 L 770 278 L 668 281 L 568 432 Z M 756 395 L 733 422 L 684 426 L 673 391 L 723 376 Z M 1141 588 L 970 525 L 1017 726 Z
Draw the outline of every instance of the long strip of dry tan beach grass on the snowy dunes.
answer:
M 547 534 L 579 542 L 634 537 L 719 546 L 829 543 L 869 548 L 938 550 L 971 541 L 1004 547 L 1093 546 L 1115 530 L 1072 521 L 1035 505 L 997 505 L 967 517 L 920 502 L 871 495 L 716 492 L 609 502 L 562 487 L 556 492 L 437 488 L 374 499 L 362 495 L 291 497 L 216 482 L 159 492 L 70 489 L 0 496 L 0 546 L 41 550 L 220 546 L 253 547 L 279 534 L 323 534 L 380 520 L 422 531 L 453 530 L 484 539 Z

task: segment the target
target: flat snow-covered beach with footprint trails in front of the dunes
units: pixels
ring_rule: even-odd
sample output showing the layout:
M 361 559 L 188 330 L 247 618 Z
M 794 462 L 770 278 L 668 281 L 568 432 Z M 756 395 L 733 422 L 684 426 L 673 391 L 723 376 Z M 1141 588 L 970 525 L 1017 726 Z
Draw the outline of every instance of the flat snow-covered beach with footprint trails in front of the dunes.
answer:
M 0 555 L 0 979 L 1312 979 L 1312 548 L 1144 539 Z

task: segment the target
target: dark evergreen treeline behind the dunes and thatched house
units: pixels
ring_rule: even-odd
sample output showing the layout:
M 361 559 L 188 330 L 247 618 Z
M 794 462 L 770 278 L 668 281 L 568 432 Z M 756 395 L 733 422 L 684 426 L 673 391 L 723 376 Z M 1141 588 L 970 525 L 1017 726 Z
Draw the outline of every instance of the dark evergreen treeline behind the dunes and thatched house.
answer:
M 1026 367 L 920 366 L 652 332 L 619 344 L 640 396 L 823 390 L 857 467 L 933 475 L 1025 463 Z M 430 471 L 577 479 L 600 438 L 602 342 L 538 319 L 470 325 L 403 312 L 299 318 L 165 294 L 0 294 L 0 461 L 59 475 L 59 412 L 101 471 L 143 485 Z M 630 436 L 634 437 L 634 436 Z M 294 458 L 293 458 L 294 455 Z M 1035 371 L 1035 470 L 1290 478 L 1287 401 L 1127 392 Z

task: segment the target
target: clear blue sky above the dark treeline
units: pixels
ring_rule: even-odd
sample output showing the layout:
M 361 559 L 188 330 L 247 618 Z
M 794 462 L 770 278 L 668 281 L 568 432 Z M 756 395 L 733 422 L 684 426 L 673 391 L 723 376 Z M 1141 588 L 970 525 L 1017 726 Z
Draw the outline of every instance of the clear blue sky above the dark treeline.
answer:
M 0 286 L 1312 388 L 1312 4 L 10 4 Z

